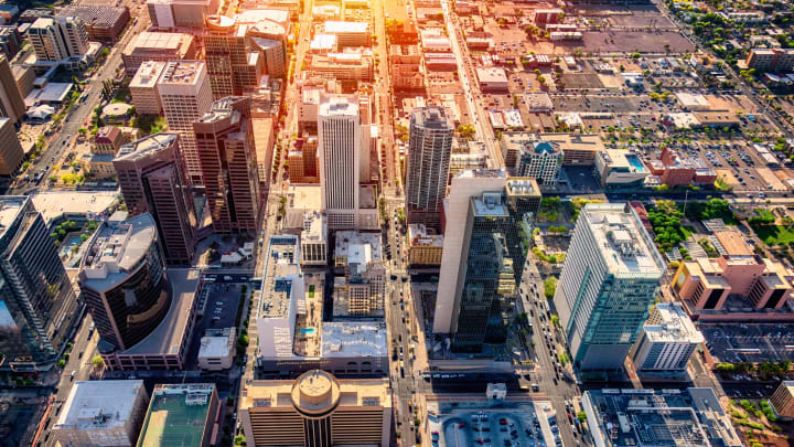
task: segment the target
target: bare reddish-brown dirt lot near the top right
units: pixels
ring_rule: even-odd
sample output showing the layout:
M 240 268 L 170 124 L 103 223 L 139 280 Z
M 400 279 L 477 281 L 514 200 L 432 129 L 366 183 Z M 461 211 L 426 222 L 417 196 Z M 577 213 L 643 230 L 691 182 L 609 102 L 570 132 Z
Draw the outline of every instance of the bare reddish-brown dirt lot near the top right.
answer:
M 676 32 L 586 31 L 581 46 L 596 53 L 687 53 L 695 50 L 691 43 Z M 665 44 L 669 45 L 665 47 Z

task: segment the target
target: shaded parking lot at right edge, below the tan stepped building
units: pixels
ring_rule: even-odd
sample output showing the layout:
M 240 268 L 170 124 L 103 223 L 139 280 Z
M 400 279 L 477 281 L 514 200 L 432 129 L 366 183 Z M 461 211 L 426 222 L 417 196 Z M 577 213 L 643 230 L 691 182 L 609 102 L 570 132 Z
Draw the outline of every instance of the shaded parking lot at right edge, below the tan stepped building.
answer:
M 794 324 L 700 323 L 715 363 L 794 361 Z

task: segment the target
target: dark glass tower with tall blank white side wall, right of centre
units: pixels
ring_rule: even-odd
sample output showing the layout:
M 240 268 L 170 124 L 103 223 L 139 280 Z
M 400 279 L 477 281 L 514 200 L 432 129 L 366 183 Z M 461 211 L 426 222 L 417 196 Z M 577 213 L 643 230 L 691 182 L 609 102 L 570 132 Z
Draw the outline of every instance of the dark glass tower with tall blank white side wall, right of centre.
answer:
M 451 334 L 453 351 L 480 352 L 483 343 L 506 341 L 539 204 L 533 179 L 478 170 L 453 180 L 444 216 L 452 241 L 444 238 L 433 328 Z

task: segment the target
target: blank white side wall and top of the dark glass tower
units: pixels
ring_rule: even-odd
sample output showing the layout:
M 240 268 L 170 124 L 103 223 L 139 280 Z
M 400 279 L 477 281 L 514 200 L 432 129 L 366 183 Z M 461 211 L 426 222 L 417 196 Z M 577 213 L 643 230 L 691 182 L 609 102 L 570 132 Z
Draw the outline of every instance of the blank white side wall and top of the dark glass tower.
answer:
M 470 200 L 483 192 L 504 190 L 506 181 L 507 174 L 504 170 L 498 169 L 463 171 L 452 179 L 444 207 L 444 242 L 436 298 L 433 333 L 452 332 L 458 280 L 460 275 L 465 273 L 465 268 L 461 268 L 461 260 L 465 263 L 468 258 L 463 253 L 463 245 Z

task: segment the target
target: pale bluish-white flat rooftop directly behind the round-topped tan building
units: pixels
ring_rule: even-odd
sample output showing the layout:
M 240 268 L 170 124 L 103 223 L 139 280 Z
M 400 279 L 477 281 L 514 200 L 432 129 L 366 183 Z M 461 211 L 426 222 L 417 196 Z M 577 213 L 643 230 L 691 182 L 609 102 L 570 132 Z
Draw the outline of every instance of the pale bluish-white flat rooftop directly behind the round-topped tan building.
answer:
M 383 322 L 324 322 L 321 338 L 323 358 L 388 355 Z

